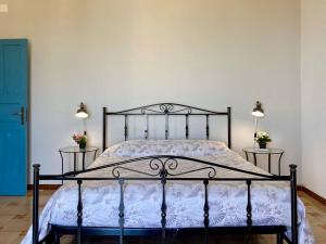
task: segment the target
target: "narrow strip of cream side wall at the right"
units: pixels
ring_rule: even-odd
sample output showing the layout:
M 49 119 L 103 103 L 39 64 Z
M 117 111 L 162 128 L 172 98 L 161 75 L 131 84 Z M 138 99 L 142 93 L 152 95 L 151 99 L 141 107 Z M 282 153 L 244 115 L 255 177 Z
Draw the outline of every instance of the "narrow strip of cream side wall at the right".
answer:
M 326 1 L 301 4 L 303 184 L 326 198 Z

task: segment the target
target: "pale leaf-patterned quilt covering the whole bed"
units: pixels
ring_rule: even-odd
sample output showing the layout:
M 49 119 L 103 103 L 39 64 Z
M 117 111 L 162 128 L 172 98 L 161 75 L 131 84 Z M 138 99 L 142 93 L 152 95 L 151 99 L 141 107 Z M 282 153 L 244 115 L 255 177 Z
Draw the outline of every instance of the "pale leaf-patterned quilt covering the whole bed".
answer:
M 129 141 L 108 149 L 89 167 L 148 155 L 191 156 L 238 169 L 267 175 L 264 170 L 246 162 L 239 154 L 214 141 Z M 139 172 L 156 174 L 160 160 L 137 160 L 123 168 L 105 168 L 83 174 L 83 177 L 139 177 Z M 187 159 L 166 163 L 171 174 L 179 177 L 243 178 L 237 172 Z M 170 167 L 171 166 L 171 167 Z M 117 172 L 118 171 L 118 172 Z M 193 172 L 191 172 L 193 171 Z M 252 177 L 252 176 L 251 176 Z M 83 226 L 118 227 L 120 185 L 117 181 L 84 181 Z M 160 181 L 125 181 L 125 227 L 160 228 L 162 184 Z M 76 182 L 66 182 L 49 200 L 39 218 L 39 239 L 49 231 L 49 223 L 76 226 L 78 191 Z M 252 183 L 252 220 L 255 226 L 285 224 L 290 228 L 290 188 L 288 182 Z M 168 181 L 166 183 L 166 227 L 203 227 L 204 185 L 202 181 Z M 247 224 L 247 184 L 244 182 L 210 182 L 210 226 Z M 313 234 L 305 218 L 304 205 L 298 200 L 299 243 L 314 243 Z M 289 229 L 290 230 L 290 229 Z M 32 243 L 29 229 L 22 244 Z

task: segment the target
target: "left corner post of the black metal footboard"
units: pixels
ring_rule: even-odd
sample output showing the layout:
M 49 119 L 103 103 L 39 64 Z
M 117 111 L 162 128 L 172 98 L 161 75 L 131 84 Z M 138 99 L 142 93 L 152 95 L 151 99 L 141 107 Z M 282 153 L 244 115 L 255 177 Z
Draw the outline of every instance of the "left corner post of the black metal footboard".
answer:
M 34 188 L 33 188 L 33 244 L 38 244 L 38 198 L 39 198 L 39 168 L 40 165 L 33 165 Z

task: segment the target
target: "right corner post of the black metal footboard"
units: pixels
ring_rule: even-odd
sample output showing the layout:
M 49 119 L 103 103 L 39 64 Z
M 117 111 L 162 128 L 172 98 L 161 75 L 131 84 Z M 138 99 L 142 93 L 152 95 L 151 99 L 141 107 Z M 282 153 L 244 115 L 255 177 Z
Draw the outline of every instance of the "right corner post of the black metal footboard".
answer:
M 292 244 L 298 244 L 297 165 L 290 165 L 291 176 L 291 234 Z

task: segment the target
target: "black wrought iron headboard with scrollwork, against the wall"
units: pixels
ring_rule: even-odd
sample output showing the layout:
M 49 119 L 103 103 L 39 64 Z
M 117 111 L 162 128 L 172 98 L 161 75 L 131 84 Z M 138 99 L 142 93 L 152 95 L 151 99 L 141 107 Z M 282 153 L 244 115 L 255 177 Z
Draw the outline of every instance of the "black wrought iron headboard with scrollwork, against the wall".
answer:
M 214 112 L 203 110 L 195 106 L 183 105 L 178 103 L 156 103 L 146 106 L 134 107 L 130 110 L 108 112 L 103 107 L 103 138 L 102 149 L 106 149 L 106 116 L 124 116 L 124 137 L 128 140 L 128 117 L 129 116 L 146 116 L 145 139 L 149 138 L 149 116 L 165 116 L 165 139 L 168 139 L 168 117 L 170 116 L 185 116 L 185 138 L 189 138 L 189 116 L 204 116 L 205 117 L 205 138 L 210 139 L 210 116 L 227 116 L 227 145 L 231 147 L 231 108 L 227 107 L 226 112 Z

